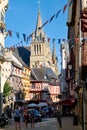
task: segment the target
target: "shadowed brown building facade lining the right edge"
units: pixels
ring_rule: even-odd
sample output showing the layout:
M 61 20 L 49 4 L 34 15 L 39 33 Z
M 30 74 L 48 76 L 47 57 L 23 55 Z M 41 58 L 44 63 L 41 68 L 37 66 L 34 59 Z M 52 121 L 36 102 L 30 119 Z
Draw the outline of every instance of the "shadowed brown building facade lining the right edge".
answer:
M 68 1 L 70 2 L 70 0 Z M 85 122 L 87 121 L 87 91 L 86 91 L 86 74 L 87 74 L 87 1 L 77 0 L 72 3 L 68 10 L 68 38 L 71 39 L 70 44 L 73 44 L 71 50 L 74 53 L 74 90 L 75 90 L 75 114 L 83 129 L 87 129 Z M 83 24 L 85 22 L 85 24 Z M 85 27 L 84 27 L 85 26 Z M 73 58 L 71 58 L 72 61 Z

